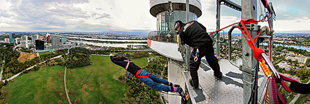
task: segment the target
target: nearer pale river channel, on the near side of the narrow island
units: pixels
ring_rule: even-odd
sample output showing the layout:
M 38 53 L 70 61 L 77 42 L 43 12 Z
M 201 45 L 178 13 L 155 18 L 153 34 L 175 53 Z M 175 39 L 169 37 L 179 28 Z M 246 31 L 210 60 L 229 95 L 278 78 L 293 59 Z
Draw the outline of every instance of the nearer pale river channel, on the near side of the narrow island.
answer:
M 70 41 L 70 40 L 69 40 Z M 127 48 L 127 45 L 147 45 L 147 43 L 94 43 L 91 41 L 71 41 L 74 43 L 83 43 L 87 45 L 105 46 L 105 47 L 115 47 L 115 48 Z

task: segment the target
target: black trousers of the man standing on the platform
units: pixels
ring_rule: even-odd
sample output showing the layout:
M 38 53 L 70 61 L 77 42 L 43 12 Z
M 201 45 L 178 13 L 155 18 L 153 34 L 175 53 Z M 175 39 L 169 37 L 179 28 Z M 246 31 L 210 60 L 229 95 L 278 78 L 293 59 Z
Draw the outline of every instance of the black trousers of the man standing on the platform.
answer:
M 210 46 L 209 48 L 200 48 L 198 49 L 198 58 L 201 58 L 205 56 L 205 59 L 207 59 L 207 62 L 209 63 L 212 70 L 214 70 L 214 73 L 220 72 L 220 65 L 218 64 L 218 59 L 216 56 L 214 56 L 214 48 Z M 196 54 L 196 49 L 192 52 L 194 55 Z M 212 57 L 211 57 L 212 56 Z M 200 66 L 201 60 L 194 61 L 194 56 L 191 55 L 191 58 L 189 59 L 189 69 L 190 74 L 192 76 L 192 83 L 194 85 L 194 88 L 198 88 L 199 80 L 198 80 L 198 68 Z

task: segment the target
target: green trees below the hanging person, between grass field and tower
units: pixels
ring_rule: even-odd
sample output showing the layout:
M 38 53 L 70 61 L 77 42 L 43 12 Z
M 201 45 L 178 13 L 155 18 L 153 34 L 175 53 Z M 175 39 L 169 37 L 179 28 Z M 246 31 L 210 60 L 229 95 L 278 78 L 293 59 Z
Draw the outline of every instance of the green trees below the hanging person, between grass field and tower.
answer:
M 163 72 L 163 79 L 167 79 L 167 67 L 164 67 L 165 62 L 165 57 L 161 56 L 150 61 L 147 66 L 142 69 L 156 76 L 161 76 L 161 72 Z M 127 76 L 126 74 L 120 76 L 118 79 L 125 81 L 129 86 L 126 93 L 129 99 L 123 98 L 121 99 L 121 103 L 160 103 L 158 91 L 145 85 L 140 79 L 136 78 L 136 76 L 131 74 Z

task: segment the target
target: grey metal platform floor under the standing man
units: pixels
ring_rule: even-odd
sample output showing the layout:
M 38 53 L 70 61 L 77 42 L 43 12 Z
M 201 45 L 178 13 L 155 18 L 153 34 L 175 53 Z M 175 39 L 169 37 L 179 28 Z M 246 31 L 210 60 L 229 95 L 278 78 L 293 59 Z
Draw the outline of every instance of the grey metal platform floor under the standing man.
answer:
M 189 72 L 183 72 L 192 103 L 243 103 L 242 72 L 226 59 L 221 59 L 219 64 L 220 71 L 223 72 L 221 80 L 215 78 L 207 61 L 202 59 L 198 70 L 198 90 L 193 90 L 189 85 L 188 80 L 191 78 Z M 258 74 L 258 85 L 261 85 L 265 75 L 262 71 Z

